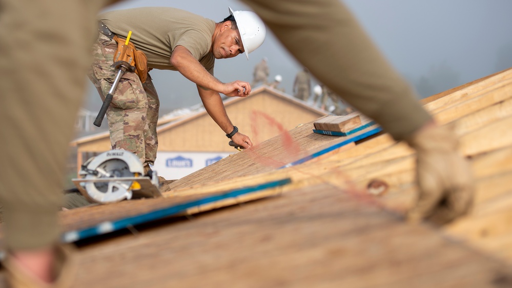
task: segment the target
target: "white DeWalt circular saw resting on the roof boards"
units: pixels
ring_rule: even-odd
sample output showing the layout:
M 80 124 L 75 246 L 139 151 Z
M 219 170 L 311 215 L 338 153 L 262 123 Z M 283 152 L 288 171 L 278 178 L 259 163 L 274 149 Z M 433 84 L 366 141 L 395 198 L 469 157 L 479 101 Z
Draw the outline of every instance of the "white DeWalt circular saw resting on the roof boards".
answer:
M 112 150 L 87 160 L 72 179 L 78 190 L 90 201 L 114 203 L 124 199 L 159 197 L 158 177 L 144 175 L 139 158 L 125 150 Z

